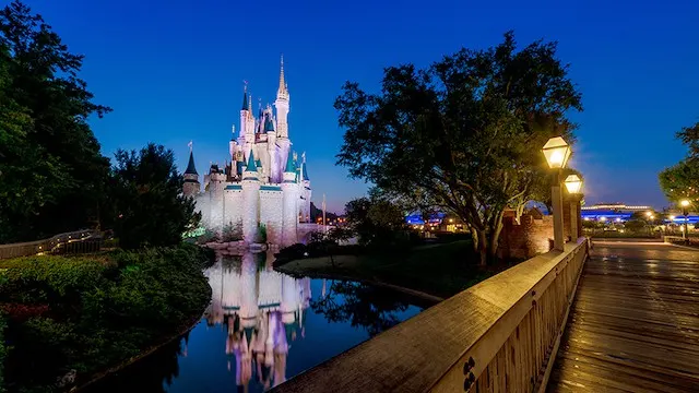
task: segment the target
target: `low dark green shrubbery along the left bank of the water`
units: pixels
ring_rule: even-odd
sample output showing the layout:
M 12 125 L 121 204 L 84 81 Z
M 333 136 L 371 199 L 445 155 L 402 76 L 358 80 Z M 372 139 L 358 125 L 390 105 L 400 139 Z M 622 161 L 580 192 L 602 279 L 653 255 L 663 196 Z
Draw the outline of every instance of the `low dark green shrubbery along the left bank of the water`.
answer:
M 181 245 L 116 251 L 104 260 L 2 261 L 0 305 L 13 343 L 8 385 L 47 391 L 70 370 L 84 381 L 177 332 L 209 301 L 208 259 Z

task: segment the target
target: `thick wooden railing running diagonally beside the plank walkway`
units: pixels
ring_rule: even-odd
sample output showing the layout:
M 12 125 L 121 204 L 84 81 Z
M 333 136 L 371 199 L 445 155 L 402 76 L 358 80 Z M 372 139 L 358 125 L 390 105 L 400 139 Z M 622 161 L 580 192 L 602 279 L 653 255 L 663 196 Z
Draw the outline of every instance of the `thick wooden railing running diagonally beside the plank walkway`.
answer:
M 544 391 L 588 250 L 522 262 L 274 391 Z

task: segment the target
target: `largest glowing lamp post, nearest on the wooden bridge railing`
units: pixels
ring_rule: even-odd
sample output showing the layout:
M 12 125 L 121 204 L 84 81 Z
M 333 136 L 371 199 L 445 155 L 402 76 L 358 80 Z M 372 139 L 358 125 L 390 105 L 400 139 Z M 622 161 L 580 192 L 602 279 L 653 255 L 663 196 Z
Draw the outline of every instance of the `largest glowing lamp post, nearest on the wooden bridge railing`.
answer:
M 564 200 L 560 192 L 560 171 L 570 157 L 570 146 L 560 136 L 548 140 L 542 148 L 548 167 L 554 169 L 554 183 L 550 187 L 552 207 L 554 209 L 554 249 L 564 250 Z

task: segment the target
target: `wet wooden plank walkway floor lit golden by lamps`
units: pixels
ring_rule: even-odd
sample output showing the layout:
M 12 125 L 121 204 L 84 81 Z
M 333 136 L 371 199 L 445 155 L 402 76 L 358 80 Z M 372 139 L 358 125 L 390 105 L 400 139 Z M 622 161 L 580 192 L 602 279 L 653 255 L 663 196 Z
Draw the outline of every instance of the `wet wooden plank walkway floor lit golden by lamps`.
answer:
M 699 250 L 595 241 L 548 392 L 699 392 Z

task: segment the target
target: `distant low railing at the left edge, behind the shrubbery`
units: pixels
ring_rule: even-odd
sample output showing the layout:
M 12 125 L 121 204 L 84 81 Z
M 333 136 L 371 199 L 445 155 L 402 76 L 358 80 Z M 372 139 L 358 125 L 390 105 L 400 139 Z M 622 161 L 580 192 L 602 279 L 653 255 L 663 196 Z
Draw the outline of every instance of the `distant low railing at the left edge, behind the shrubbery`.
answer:
M 38 254 L 73 254 L 99 251 L 105 240 L 94 238 L 99 233 L 84 229 L 59 234 L 48 239 L 21 243 L 0 245 L 0 259 Z M 106 240 L 109 246 L 109 240 Z

